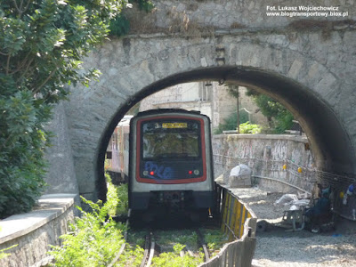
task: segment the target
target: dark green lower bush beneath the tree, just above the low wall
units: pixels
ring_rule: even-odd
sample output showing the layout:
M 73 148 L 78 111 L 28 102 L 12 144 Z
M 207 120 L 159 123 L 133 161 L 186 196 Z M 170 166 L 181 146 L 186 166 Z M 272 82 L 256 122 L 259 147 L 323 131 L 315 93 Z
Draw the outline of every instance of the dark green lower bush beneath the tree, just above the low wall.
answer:
M 0 74 L 0 218 L 30 210 L 44 190 L 44 121 L 51 109 L 23 90 L 4 89 Z M 4 89 L 4 90 L 3 90 Z

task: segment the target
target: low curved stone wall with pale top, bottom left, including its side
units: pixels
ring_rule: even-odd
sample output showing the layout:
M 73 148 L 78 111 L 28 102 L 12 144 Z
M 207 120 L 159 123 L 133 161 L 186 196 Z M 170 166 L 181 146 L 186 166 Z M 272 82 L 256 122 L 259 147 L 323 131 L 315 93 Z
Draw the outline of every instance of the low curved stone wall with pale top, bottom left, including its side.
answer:
M 17 245 L 5 251 L 11 255 L 0 260 L 0 266 L 39 266 L 49 245 L 60 245 L 59 237 L 68 231 L 75 198 L 75 194 L 44 195 L 36 210 L 0 221 L 0 250 Z

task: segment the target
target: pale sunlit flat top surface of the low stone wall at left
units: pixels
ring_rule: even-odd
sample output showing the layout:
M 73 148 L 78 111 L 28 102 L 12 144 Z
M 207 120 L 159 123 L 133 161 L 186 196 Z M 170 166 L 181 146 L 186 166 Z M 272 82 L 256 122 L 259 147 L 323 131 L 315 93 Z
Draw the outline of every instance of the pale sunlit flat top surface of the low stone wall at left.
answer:
M 76 194 L 51 194 L 38 199 L 36 210 L 12 215 L 0 221 L 0 245 L 43 226 L 63 214 L 74 204 Z

